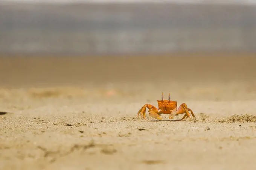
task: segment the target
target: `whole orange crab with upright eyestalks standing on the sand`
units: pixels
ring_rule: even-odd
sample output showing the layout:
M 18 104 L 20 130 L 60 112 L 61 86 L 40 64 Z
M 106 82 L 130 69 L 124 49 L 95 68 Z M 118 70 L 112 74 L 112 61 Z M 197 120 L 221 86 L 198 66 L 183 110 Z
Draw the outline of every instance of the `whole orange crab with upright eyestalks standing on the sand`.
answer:
M 179 115 L 183 113 L 185 113 L 185 115 L 183 116 L 183 118 L 181 118 L 181 120 L 186 119 L 188 117 L 191 119 L 192 116 L 195 117 L 193 111 L 190 108 L 187 108 L 186 103 L 182 103 L 180 107 L 177 109 L 177 102 L 171 100 L 170 93 L 169 93 L 168 100 L 163 99 L 163 93 L 162 93 L 162 100 L 157 100 L 157 102 L 158 102 L 158 109 L 155 106 L 150 104 L 145 104 L 144 106 L 142 106 L 142 108 L 140 108 L 140 110 L 138 111 L 138 118 L 140 114 L 142 119 L 147 120 L 146 108 L 149 109 L 149 116 L 157 120 L 163 119 L 160 116 L 161 114 L 169 114 L 169 119 L 174 118 L 175 115 Z M 189 113 L 189 111 L 191 114 Z

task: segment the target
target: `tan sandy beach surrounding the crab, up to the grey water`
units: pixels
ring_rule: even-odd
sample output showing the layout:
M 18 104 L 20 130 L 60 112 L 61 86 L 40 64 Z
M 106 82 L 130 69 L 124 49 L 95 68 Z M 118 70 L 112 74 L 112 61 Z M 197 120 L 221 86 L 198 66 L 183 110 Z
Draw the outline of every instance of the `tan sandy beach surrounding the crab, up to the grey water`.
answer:
M 0 58 L 0 169 L 256 166 L 256 55 Z M 171 93 L 196 119 L 137 118 Z

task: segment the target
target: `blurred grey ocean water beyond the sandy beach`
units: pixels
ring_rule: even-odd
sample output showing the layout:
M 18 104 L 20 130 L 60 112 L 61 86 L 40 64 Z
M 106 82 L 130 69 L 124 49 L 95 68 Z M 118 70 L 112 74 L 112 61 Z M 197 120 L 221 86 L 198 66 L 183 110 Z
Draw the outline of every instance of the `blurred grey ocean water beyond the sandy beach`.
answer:
M 106 1 L 0 1 L 0 54 L 256 52 L 255 1 Z

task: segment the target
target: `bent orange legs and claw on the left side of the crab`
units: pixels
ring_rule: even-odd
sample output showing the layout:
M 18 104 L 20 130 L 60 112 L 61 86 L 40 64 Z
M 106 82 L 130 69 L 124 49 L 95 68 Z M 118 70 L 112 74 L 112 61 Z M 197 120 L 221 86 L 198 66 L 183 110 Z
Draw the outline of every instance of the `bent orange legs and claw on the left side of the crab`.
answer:
M 142 108 L 140 108 L 140 110 L 138 111 L 138 118 L 139 118 L 139 114 L 141 116 L 142 119 L 146 119 L 146 108 L 149 109 L 149 116 L 153 117 L 157 120 L 162 120 L 162 117 L 158 114 L 158 109 L 150 104 L 145 104 L 144 106 L 142 106 Z

